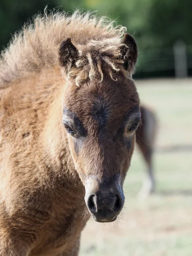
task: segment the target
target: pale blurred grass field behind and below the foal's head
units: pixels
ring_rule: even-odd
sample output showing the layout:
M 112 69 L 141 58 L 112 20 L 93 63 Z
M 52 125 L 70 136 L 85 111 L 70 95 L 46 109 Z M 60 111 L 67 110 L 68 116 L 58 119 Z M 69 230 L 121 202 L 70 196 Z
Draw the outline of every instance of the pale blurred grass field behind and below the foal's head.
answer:
M 192 80 L 136 81 L 140 99 L 157 112 L 157 192 L 137 193 L 145 163 L 137 151 L 125 180 L 125 208 L 112 224 L 91 219 L 80 256 L 192 256 Z

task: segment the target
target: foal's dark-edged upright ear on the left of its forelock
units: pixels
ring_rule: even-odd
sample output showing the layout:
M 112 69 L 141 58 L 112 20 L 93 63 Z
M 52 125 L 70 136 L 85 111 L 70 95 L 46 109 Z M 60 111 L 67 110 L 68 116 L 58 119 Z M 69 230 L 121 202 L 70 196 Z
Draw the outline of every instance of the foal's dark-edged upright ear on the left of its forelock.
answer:
M 70 72 L 70 69 L 75 65 L 79 59 L 78 49 L 72 44 L 71 38 L 65 39 L 59 48 L 59 61 L 66 72 Z

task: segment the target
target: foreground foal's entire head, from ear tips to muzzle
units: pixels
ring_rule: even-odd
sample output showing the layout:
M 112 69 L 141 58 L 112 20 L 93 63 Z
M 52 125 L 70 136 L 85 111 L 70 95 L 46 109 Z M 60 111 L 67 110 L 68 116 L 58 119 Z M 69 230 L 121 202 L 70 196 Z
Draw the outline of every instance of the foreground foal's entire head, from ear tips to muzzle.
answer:
M 70 152 L 85 186 L 89 212 L 96 221 L 111 222 L 124 204 L 122 187 L 140 123 L 139 96 L 131 79 L 137 46 L 131 35 L 125 34 L 116 68 L 112 67 L 115 61 L 111 65 L 115 78 L 114 72 L 108 72 L 109 61 L 102 61 L 106 60 L 103 55 L 96 58 L 90 52 L 83 55 L 70 38 L 60 47 L 61 65 L 72 74 L 63 101 L 63 125 Z M 78 65 L 84 66 L 78 69 Z M 91 69 L 95 76 L 91 75 Z M 83 77 L 81 85 L 78 74 Z

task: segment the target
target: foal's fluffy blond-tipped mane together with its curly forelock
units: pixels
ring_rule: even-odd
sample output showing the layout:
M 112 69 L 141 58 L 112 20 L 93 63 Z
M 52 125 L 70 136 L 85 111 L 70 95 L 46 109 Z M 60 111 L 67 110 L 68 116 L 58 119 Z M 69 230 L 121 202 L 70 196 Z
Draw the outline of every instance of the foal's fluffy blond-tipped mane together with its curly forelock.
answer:
M 12 38 L 0 56 L 0 84 L 9 83 L 25 73 L 40 72 L 59 66 L 58 49 L 70 37 L 79 49 L 81 59 L 69 76 L 80 84 L 85 79 L 103 79 L 103 73 L 113 75 L 121 69 L 121 38 L 126 28 L 113 26 L 114 21 L 79 10 L 37 15 Z M 124 72 L 125 73 L 125 72 Z

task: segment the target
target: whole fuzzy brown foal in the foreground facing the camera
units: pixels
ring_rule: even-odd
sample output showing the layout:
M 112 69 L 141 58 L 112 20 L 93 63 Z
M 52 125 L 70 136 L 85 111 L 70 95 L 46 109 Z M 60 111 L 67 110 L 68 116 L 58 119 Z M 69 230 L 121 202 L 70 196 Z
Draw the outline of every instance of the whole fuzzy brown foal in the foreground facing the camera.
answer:
M 90 215 L 116 220 L 140 123 L 136 61 L 124 27 L 78 11 L 36 17 L 2 52 L 1 256 L 77 256 Z

